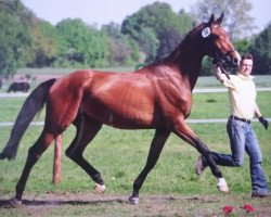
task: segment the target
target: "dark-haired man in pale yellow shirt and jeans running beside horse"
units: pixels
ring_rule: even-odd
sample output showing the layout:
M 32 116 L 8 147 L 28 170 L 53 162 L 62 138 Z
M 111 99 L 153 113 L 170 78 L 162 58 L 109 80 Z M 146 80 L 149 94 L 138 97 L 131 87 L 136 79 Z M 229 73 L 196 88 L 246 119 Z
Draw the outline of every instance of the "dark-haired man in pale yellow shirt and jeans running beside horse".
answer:
M 227 124 L 227 131 L 230 138 L 232 155 L 211 152 L 216 164 L 221 166 L 240 167 L 245 157 L 245 151 L 250 161 L 250 178 L 253 188 L 253 197 L 270 196 L 268 183 L 261 167 L 262 155 L 250 125 L 254 116 L 268 129 L 268 120 L 261 116 L 260 110 L 256 104 L 256 88 L 250 76 L 253 68 L 253 56 L 243 55 L 237 75 L 230 75 L 228 78 L 221 73 L 219 66 L 215 67 L 217 79 L 228 87 L 230 98 L 230 112 Z M 204 156 L 199 156 L 195 171 L 199 176 L 208 166 Z

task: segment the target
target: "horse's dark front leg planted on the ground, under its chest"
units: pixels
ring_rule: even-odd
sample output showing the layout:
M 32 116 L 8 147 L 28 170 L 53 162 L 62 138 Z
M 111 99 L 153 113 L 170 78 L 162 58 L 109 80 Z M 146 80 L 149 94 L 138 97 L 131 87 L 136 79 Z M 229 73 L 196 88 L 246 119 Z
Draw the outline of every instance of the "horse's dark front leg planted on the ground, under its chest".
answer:
M 159 130 L 159 129 L 156 130 L 151 148 L 150 148 L 145 167 L 143 168 L 143 170 L 140 173 L 140 175 L 133 182 L 133 192 L 129 199 L 129 202 L 131 204 L 139 204 L 139 191 L 147 174 L 152 170 L 152 168 L 155 166 L 156 162 L 158 161 L 163 146 L 165 142 L 167 141 L 169 135 L 170 135 L 170 131 L 165 131 L 165 130 Z

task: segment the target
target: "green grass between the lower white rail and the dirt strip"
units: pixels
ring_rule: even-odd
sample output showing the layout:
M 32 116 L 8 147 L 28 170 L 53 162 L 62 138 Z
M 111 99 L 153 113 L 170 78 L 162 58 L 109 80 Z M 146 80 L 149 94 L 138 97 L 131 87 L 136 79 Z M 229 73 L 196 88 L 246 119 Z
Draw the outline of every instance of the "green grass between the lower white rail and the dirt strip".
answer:
M 229 140 L 224 130 L 224 124 L 191 125 L 197 135 L 211 150 L 230 153 Z M 40 127 L 30 127 L 22 140 L 18 155 L 15 161 L 1 162 L 0 193 L 11 194 L 17 182 L 27 155 L 27 149 L 40 132 Z M 263 153 L 263 168 L 268 180 L 271 180 L 271 151 L 270 133 L 262 130 L 261 126 L 255 126 L 261 150 Z M 134 178 L 143 168 L 146 161 L 153 130 L 117 130 L 104 127 L 95 140 L 87 148 L 86 158 L 96 167 L 105 180 L 108 194 L 129 194 Z M 1 128 L 0 137 L 7 141 L 9 128 Z M 68 146 L 74 136 L 74 129 L 64 135 L 64 149 Z M 1 142 L 1 149 L 4 143 Z M 63 153 L 64 154 L 64 153 Z M 183 142 L 176 136 L 170 136 L 162 156 L 147 177 L 142 188 L 142 193 L 147 194 L 206 194 L 217 193 L 216 180 L 207 170 L 201 180 L 194 174 L 194 163 L 198 156 L 195 149 Z M 62 180 L 55 187 L 52 180 L 53 145 L 42 155 L 34 167 L 28 180 L 27 193 L 44 193 L 47 191 L 88 192 L 93 182 L 72 161 L 63 155 Z M 248 193 L 250 191 L 248 158 L 241 168 L 221 167 L 225 178 L 234 193 Z M 9 175 L 9 176 L 7 176 Z M 114 178 L 113 178 L 114 177 Z

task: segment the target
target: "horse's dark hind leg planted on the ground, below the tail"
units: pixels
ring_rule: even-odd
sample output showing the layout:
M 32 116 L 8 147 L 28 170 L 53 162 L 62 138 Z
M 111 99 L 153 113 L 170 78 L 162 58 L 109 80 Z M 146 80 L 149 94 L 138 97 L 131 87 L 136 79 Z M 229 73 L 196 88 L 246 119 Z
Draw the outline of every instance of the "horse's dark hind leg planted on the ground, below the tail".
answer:
M 53 140 L 54 140 L 54 135 L 43 130 L 39 139 L 36 141 L 36 143 L 28 150 L 28 156 L 23 173 L 21 175 L 21 178 L 16 184 L 16 195 L 13 202 L 14 201 L 21 202 L 23 192 L 25 190 L 26 181 L 29 177 L 31 168 L 38 162 L 41 154 L 47 150 L 47 148 L 52 143 Z

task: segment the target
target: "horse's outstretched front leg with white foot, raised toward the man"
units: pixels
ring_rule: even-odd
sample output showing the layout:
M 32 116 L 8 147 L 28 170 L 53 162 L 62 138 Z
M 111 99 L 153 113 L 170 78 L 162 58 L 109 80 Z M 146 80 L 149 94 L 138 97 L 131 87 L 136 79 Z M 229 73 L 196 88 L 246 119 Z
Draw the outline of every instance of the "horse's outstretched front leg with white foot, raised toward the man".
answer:
M 228 192 L 229 188 L 224 180 L 222 173 L 218 168 L 217 164 L 211 157 L 210 150 L 208 146 L 192 131 L 188 124 L 182 120 L 175 125 L 173 132 L 182 138 L 184 141 L 192 144 L 205 158 L 211 169 L 212 175 L 218 179 L 217 187 L 220 191 Z

